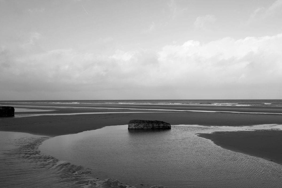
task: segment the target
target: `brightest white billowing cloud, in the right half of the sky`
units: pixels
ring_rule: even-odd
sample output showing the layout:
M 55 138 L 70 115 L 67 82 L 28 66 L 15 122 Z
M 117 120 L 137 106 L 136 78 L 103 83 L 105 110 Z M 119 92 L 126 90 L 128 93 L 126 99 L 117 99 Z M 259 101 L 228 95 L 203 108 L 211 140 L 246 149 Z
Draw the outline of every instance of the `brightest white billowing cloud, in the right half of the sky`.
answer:
M 282 83 L 281 41 L 282 34 L 240 40 L 224 38 L 202 45 L 187 41 L 182 46 L 164 47 L 159 61 L 173 70 L 173 76 L 193 79 L 188 82 L 190 85 Z

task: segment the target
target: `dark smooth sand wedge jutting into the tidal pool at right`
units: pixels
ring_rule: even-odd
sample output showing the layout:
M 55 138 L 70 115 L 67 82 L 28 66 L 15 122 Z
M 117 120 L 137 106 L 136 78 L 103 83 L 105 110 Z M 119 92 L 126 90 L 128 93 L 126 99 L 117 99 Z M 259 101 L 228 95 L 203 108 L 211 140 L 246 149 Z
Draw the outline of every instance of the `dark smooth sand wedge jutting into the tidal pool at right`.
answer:
M 198 134 L 222 148 L 265 158 L 282 165 L 282 131 L 230 131 Z

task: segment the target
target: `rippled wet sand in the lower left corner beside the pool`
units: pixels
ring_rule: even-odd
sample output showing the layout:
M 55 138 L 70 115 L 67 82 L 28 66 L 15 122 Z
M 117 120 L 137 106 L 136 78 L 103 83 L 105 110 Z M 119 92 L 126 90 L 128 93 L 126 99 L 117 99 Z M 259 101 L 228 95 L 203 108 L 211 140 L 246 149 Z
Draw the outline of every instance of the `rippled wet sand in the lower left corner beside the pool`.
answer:
M 114 178 L 104 180 L 91 178 L 89 175 L 94 169 L 40 154 L 38 146 L 50 137 L 13 132 L 0 132 L 0 136 L 0 187 L 134 188 L 122 185 Z

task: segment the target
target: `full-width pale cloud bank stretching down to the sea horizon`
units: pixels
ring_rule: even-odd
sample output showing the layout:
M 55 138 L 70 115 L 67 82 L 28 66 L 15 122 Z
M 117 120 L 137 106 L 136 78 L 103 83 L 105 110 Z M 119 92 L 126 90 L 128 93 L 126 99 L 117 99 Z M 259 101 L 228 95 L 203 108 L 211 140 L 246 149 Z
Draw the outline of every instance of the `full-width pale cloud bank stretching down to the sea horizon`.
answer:
M 80 93 L 92 99 L 281 98 L 282 94 L 282 34 L 226 37 L 204 44 L 190 40 L 159 51 L 116 50 L 111 55 L 73 49 L 26 51 L 20 46 L 0 48 L 3 98 L 15 92 L 26 93 L 26 99 L 33 93 L 48 93 L 53 99 L 58 93 L 62 98 Z

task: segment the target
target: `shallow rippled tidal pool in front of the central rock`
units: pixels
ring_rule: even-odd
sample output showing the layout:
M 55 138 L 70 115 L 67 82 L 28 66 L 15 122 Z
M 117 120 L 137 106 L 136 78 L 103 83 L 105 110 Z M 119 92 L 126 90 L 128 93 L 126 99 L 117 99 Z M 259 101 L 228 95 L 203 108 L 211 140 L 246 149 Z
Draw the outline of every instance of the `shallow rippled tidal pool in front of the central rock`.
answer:
M 136 187 L 157 183 L 171 188 L 281 188 L 281 165 L 223 149 L 195 135 L 213 131 L 226 130 L 203 126 L 127 130 L 127 125 L 109 126 L 51 138 L 40 149 L 123 182 L 131 179 L 138 185 L 129 183 Z M 59 140 L 62 145 L 50 147 Z

